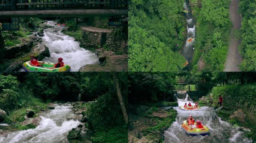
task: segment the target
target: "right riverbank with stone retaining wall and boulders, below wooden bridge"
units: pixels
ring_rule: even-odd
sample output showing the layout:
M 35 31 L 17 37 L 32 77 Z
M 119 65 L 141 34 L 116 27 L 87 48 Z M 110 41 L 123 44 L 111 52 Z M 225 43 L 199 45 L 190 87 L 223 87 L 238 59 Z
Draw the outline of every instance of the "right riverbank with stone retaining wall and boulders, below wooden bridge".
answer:
M 81 37 L 75 37 L 76 41 L 80 42 L 80 47 L 95 52 L 100 63 L 82 66 L 79 71 L 128 71 L 128 36 L 125 28 L 101 29 L 86 23 L 77 25 L 77 28 L 81 31 Z M 63 32 L 70 33 L 68 27 Z

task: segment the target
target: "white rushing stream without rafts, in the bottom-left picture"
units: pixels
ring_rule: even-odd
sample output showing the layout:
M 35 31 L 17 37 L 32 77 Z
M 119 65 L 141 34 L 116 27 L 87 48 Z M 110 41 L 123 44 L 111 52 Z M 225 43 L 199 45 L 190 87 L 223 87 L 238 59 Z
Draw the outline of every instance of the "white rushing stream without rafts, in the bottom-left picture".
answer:
M 42 121 L 36 128 L 10 132 L 6 138 L 0 137 L 0 143 L 68 143 L 68 132 L 80 124 L 77 120 L 67 120 L 73 114 L 71 108 L 71 104 L 57 105 L 40 116 Z

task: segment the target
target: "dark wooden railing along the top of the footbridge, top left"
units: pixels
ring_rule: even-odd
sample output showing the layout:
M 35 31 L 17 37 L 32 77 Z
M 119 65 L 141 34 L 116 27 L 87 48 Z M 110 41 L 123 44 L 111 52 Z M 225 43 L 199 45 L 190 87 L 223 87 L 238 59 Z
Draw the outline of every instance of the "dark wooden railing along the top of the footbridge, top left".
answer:
M 128 0 L 0 0 L 0 10 L 128 9 Z

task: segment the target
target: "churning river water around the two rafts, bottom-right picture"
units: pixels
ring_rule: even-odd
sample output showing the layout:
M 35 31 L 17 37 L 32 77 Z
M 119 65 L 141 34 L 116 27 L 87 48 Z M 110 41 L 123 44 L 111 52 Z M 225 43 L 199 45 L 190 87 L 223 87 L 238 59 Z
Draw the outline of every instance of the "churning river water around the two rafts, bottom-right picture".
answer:
M 187 93 L 177 93 L 177 101 L 179 106 L 184 106 L 185 103 L 193 101 Z M 252 143 L 252 140 L 247 139 L 243 135 L 243 131 L 233 127 L 226 121 L 222 121 L 217 116 L 213 107 L 203 106 L 201 109 L 184 111 L 179 107 L 173 107 L 177 110 L 176 121 L 171 124 L 168 130 L 165 131 L 164 143 Z M 181 124 L 192 114 L 194 120 L 201 120 L 202 124 L 207 126 L 210 134 L 206 136 L 189 136 L 182 128 Z

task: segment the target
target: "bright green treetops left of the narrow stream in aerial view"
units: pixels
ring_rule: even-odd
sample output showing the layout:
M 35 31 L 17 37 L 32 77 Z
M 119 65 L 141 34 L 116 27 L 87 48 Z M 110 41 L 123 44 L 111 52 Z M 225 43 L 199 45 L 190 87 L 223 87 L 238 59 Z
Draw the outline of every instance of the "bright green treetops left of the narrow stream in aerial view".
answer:
M 177 51 L 185 39 L 183 0 L 132 0 L 129 3 L 130 71 L 179 71 L 185 58 Z

